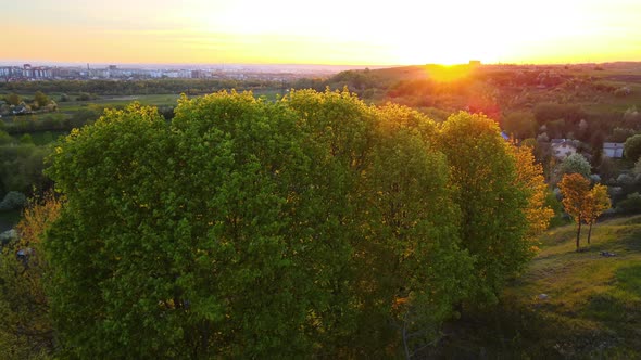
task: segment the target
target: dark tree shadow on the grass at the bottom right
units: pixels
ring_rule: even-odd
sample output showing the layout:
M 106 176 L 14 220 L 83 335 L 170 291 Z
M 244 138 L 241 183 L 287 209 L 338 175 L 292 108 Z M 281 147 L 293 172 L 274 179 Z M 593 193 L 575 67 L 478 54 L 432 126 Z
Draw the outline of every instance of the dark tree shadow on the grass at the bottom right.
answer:
M 554 313 L 545 303 L 528 304 L 515 298 L 503 299 L 489 309 L 468 309 L 461 319 L 448 323 L 444 333 L 425 358 L 609 358 L 621 351 L 636 355 L 614 332 Z

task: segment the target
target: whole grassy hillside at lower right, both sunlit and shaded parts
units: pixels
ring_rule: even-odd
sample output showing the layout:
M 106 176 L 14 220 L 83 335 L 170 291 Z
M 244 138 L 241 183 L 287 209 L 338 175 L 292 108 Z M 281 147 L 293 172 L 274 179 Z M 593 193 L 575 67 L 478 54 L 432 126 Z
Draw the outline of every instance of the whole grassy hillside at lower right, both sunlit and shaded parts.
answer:
M 445 329 L 440 357 L 641 358 L 641 216 L 548 232 L 497 308 L 467 309 Z M 614 253 L 606 257 L 602 252 Z M 435 353 L 432 353 L 435 355 Z

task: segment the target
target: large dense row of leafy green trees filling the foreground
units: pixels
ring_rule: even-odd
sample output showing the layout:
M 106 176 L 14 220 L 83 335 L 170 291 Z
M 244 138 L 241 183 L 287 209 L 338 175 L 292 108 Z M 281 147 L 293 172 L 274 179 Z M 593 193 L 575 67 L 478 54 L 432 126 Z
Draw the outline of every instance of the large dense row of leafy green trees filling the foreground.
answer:
M 0 277 L 47 279 L 24 293 L 46 294 L 30 317 L 50 331 L 1 318 L 17 357 L 411 357 L 497 301 L 552 215 L 531 150 L 493 120 L 347 91 L 183 97 L 172 121 L 108 110 L 50 162 L 55 220 L 2 255 L 36 248 Z

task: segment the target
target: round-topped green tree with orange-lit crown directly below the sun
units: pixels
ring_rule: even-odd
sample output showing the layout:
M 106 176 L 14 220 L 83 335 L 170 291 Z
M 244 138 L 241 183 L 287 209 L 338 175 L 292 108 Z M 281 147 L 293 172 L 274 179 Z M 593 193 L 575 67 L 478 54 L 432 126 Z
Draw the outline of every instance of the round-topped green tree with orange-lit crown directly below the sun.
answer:
M 533 256 L 527 237 L 529 191 L 517 179 L 512 146 L 482 115 L 450 116 L 440 131 L 455 203 L 462 210 L 462 246 L 475 256 L 476 299 L 495 301 L 508 277 Z

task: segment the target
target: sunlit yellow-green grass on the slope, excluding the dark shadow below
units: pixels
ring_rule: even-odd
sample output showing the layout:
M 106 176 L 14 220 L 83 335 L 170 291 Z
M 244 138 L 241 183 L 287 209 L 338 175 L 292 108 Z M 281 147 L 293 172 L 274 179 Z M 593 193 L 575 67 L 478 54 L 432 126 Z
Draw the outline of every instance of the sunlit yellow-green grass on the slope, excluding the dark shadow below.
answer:
M 596 339 L 601 335 L 602 344 L 612 345 L 591 349 L 592 355 L 639 350 L 641 356 L 641 216 L 596 224 L 590 245 L 583 229 L 582 253 L 576 252 L 574 224 L 542 236 L 541 253 L 506 294 L 526 306 L 542 306 L 543 316 L 580 323 Z M 602 252 L 616 256 L 604 257 Z M 549 298 L 541 301 L 538 294 Z

